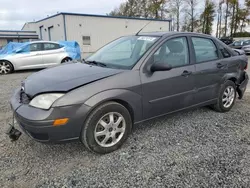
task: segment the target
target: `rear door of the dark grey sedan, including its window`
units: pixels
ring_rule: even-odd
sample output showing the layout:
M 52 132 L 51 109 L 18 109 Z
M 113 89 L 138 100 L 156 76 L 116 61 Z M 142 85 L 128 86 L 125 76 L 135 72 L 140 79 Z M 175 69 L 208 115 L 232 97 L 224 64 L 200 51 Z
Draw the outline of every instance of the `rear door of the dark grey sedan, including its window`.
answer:
M 211 38 L 191 37 L 191 41 L 195 57 L 195 102 L 200 104 L 217 98 L 228 61 L 221 59 Z

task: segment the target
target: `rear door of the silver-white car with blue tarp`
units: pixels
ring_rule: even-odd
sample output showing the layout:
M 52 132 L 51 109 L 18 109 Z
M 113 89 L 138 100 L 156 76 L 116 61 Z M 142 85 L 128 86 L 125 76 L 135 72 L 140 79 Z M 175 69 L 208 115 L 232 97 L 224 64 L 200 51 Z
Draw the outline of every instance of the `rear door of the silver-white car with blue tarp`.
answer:
M 60 64 L 64 53 L 63 48 L 57 43 L 43 43 L 42 56 L 44 67 Z

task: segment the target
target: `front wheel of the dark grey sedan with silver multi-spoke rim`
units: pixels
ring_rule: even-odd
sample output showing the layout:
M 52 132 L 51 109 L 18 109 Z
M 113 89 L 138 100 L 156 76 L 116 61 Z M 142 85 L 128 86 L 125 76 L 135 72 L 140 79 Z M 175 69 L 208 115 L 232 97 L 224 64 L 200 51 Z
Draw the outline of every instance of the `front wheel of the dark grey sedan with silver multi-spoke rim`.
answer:
M 114 121 L 111 120 L 111 116 Z M 119 103 L 107 102 L 90 113 L 80 140 L 90 151 L 106 154 L 120 148 L 127 140 L 131 129 L 132 120 L 128 110 Z

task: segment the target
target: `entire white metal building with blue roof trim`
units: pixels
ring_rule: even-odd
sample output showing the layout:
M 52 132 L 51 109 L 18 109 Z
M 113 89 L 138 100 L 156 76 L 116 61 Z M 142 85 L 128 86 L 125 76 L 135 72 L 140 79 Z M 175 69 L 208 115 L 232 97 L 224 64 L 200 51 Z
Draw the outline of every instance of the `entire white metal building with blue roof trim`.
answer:
M 26 23 L 22 30 L 36 31 L 41 40 L 75 40 L 79 43 L 81 51 L 89 54 L 118 37 L 137 33 L 146 24 L 148 25 L 142 32 L 171 30 L 170 19 L 156 20 L 77 13 L 58 13 L 37 22 Z

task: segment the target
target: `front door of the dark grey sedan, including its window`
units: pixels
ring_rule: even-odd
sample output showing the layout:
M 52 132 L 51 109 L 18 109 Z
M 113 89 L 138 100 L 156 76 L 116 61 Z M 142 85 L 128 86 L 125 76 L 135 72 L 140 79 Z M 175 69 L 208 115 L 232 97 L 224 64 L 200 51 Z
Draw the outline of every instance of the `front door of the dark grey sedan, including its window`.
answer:
M 194 104 L 195 67 L 190 63 L 189 56 L 187 38 L 177 37 L 165 41 L 146 63 L 146 66 L 166 63 L 171 65 L 172 69 L 141 74 L 145 119 Z

